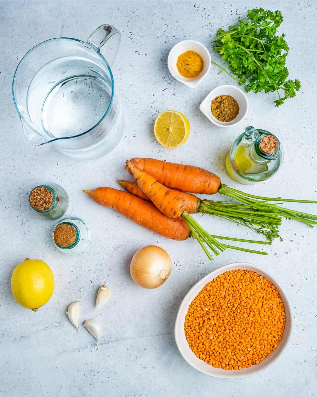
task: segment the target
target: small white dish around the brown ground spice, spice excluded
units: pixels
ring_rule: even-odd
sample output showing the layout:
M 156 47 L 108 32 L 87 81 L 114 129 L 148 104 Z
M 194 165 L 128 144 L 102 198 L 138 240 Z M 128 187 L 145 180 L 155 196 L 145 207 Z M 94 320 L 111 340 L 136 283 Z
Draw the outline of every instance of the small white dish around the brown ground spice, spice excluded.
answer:
M 211 112 L 211 101 L 219 95 L 231 95 L 239 104 L 238 116 L 228 123 L 219 121 Z M 244 94 L 244 92 L 235 85 L 220 85 L 219 87 L 216 87 L 210 91 L 210 93 L 199 105 L 199 109 L 206 116 L 206 118 L 208 118 L 215 125 L 218 125 L 218 127 L 232 127 L 233 125 L 240 123 L 240 121 L 242 121 L 248 113 L 248 99 L 246 98 L 246 94 Z

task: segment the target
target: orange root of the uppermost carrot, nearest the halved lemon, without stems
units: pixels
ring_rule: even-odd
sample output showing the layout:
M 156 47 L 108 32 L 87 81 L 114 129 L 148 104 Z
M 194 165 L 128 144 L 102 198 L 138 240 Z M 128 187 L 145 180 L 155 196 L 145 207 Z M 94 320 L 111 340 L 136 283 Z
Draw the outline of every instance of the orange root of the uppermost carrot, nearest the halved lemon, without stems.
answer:
M 213 195 L 221 186 L 214 173 L 195 166 L 170 163 L 153 158 L 132 158 L 132 164 L 145 171 L 166 187 L 191 193 Z M 130 172 L 131 173 L 131 172 Z

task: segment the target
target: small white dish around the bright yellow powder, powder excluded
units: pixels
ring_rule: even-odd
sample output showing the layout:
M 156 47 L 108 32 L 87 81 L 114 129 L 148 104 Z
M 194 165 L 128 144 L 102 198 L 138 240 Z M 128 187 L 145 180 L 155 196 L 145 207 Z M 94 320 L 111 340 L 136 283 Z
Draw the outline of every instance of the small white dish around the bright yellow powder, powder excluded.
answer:
M 194 77 L 193 79 L 187 79 L 186 77 L 183 77 L 178 71 L 178 68 L 176 66 L 178 57 L 186 51 L 198 52 L 198 54 L 201 56 L 202 60 L 204 61 L 204 67 L 202 68 L 201 73 L 199 73 L 199 75 L 197 77 Z M 201 81 L 209 73 L 211 66 L 210 52 L 199 41 L 183 40 L 175 44 L 172 50 L 170 50 L 170 53 L 168 54 L 168 58 L 167 58 L 167 66 L 168 66 L 168 70 L 170 71 L 174 79 L 180 81 L 185 85 L 188 85 L 188 87 L 196 88 L 197 85 L 199 85 L 199 83 L 201 83 Z

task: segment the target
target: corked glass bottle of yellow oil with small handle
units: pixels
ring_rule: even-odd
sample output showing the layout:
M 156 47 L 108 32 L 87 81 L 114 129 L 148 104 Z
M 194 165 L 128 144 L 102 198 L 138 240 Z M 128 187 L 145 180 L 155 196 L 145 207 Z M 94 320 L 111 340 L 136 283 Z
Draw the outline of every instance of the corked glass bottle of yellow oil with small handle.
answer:
M 269 179 L 282 163 L 283 148 L 277 137 L 249 125 L 234 141 L 226 168 L 235 181 L 249 185 Z

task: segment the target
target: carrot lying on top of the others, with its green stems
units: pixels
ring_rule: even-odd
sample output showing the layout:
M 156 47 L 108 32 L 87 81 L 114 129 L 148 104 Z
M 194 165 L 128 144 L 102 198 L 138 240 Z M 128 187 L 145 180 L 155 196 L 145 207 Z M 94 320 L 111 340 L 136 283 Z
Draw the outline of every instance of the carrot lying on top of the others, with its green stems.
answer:
M 172 219 L 179 219 L 180 217 L 185 219 L 189 229 L 191 230 L 192 237 L 199 242 L 210 260 L 212 260 L 212 256 L 210 252 L 208 252 L 206 246 L 209 247 L 210 250 L 216 255 L 220 254 L 220 252 L 224 251 L 226 248 L 267 255 L 266 252 L 254 251 L 220 243 L 217 238 L 224 240 L 244 241 L 249 243 L 268 244 L 264 241 L 250 241 L 245 239 L 210 235 L 186 211 L 188 200 L 187 197 L 183 197 L 182 195 L 179 195 L 178 191 L 169 189 L 168 187 L 165 187 L 161 183 L 157 182 L 154 177 L 144 171 L 139 170 L 130 161 L 126 162 L 126 166 L 136 179 L 139 188 L 151 199 L 153 204 L 164 215 Z M 206 246 L 204 244 L 206 244 Z

